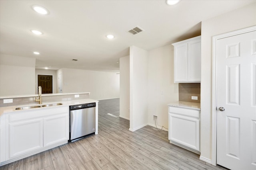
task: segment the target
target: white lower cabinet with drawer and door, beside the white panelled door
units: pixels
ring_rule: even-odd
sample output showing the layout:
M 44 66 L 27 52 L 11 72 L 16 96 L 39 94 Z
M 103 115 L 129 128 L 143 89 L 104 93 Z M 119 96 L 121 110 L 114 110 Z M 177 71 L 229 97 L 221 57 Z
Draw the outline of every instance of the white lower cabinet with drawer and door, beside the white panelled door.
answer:
M 200 153 L 200 110 L 169 106 L 170 143 Z

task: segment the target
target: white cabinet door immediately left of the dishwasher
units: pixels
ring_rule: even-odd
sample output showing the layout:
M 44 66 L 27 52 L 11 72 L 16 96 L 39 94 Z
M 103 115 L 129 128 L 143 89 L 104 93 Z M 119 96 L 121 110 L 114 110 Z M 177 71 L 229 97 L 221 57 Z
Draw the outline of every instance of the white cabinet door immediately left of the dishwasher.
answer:
M 44 147 L 69 139 L 68 113 L 44 119 Z

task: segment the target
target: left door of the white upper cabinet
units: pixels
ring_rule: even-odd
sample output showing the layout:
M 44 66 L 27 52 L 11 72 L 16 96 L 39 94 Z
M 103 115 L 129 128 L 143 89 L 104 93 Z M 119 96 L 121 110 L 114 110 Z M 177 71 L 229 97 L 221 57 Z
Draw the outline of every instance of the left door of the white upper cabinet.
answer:
M 188 80 L 188 43 L 174 46 L 174 82 Z

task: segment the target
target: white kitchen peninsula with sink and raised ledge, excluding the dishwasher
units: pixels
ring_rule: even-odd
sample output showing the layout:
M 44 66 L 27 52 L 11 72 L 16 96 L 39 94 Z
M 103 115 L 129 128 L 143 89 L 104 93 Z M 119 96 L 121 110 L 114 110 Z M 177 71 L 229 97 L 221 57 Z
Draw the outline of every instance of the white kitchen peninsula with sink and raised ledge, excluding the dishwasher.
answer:
M 98 134 L 98 101 L 89 99 L 89 94 L 42 94 L 42 104 L 35 102 L 37 94 L 1 96 L 0 166 L 68 143 L 69 107 L 73 105 L 96 104 Z M 21 107 L 26 109 L 16 109 Z

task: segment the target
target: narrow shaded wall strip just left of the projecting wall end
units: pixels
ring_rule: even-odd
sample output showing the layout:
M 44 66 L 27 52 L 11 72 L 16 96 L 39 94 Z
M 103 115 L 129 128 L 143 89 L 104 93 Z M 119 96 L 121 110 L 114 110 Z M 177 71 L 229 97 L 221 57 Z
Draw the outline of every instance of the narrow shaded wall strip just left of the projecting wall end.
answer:
M 130 119 L 130 56 L 119 59 L 120 66 L 120 117 Z

